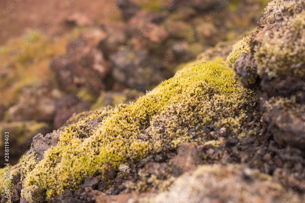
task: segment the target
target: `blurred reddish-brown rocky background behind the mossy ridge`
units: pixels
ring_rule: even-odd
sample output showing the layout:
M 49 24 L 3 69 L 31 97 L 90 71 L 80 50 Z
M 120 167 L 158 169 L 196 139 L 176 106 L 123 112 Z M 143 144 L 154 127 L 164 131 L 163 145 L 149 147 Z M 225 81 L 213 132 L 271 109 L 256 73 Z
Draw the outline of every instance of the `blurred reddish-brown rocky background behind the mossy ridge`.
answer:
M 9 131 L 11 164 L 73 114 L 135 101 L 200 53 L 224 61 L 267 2 L 1 1 L 0 145 Z

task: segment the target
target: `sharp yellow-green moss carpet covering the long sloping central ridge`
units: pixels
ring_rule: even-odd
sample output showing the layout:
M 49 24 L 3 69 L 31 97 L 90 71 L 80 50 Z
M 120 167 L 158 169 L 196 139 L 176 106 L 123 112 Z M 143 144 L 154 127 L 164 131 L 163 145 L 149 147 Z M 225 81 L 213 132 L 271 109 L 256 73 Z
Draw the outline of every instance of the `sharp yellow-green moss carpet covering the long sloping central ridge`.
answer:
M 223 64 L 186 67 L 135 103 L 120 104 L 107 114 L 96 111 L 71 124 L 42 161 L 23 159 L 22 195 L 28 201 L 49 200 L 66 189 L 74 191 L 109 164 L 117 170 L 120 164 L 136 163 L 183 142 L 217 146 L 220 141 L 207 135 L 219 128 L 225 127 L 229 135 L 249 135 L 253 131 L 246 118 L 255 103 L 252 95 Z M 86 123 L 99 117 L 103 120 L 96 128 Z

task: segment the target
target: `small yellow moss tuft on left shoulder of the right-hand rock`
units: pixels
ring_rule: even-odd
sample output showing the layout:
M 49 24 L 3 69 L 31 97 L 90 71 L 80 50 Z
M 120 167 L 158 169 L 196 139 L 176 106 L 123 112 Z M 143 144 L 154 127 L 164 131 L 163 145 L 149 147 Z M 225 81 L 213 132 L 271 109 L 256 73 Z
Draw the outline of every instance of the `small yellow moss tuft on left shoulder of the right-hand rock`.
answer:
M 227 58 L 227 66 L 230 68 L 235 67 L 235 62 L 239 58 L 241 53 L 247 53 L 250 51 L 250 36 L 243 37 L 241 40 L 236 42 L 232 46 L 232 52 L 229 54 Z

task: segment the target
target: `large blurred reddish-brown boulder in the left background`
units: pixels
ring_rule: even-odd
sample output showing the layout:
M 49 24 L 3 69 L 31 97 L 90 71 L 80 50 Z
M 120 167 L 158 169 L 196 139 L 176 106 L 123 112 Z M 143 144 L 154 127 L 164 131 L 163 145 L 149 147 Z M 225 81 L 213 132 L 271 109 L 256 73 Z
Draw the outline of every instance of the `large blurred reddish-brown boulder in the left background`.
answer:
M 75 91 L 80 96 L 89 92 L 98 96 L 105 88 L 103 79 L 109 68 L 103 54 L 96 48 L 88 46 L 85 39 L 76 40 L 67 46 L 67 56 L 52 61 L 50 68 L 58 76 L 58 82 L 65 91 Z M 73 53 L 71 53 L 73 52 Z

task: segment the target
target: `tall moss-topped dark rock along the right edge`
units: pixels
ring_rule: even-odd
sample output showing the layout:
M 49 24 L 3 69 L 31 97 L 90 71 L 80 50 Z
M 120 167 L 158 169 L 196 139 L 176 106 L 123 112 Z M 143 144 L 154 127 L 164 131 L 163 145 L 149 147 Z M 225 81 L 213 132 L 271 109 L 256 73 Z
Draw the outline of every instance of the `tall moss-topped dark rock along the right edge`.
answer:
M 267 151 L 258 151 L 265 153 L 267 161 L 261 170 L 301 193 L 305 178 L 304 5 L 305 1 L 270 2 L 257 31 L 237 43 L 235 49 L 240 51 L 227 59 L 242 85 L 258 93 L 265 136 L 271 138 Z

